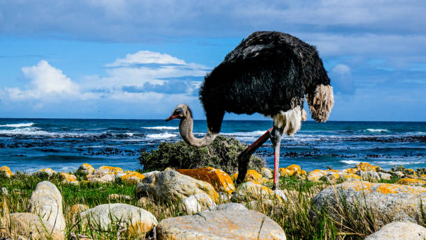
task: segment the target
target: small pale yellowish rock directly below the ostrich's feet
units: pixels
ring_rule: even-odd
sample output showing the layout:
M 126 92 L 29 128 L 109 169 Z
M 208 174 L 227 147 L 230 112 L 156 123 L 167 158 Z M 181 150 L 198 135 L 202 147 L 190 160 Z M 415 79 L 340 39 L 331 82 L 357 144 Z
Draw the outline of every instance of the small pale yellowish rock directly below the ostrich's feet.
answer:
M 270 198 L 279 198 L 274 191 L 262 184 L 254 182 L 244 182 L 239 185 L 238 189 L 232 194 L 232 200 L 238 202 L 249 202 L 252 200 L 263 200 Z

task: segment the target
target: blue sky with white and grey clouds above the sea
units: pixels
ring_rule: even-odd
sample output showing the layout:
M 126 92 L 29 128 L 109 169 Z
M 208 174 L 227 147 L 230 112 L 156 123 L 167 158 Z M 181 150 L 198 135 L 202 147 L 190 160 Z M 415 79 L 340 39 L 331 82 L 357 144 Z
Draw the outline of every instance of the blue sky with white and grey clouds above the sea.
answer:
M 205 74 L 254 31 L 281 31 L 317 47 L 329 120 L 426 121 L 425 12 L 392 0 L 0 0 L 0 118 L 165 119 L 187 103 L 205 119 Z

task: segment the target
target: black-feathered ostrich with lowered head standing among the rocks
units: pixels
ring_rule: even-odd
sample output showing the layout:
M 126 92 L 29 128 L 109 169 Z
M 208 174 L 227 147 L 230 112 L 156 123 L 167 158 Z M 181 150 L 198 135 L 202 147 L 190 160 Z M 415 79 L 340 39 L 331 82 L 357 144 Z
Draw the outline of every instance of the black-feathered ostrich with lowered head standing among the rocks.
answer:
M 333 88 L 315 47 L 276 31 L 252 33 L 224 61 L 205 76 L 200 102 L 207 118 L 207 134 L 196 138 L 193 118 L 186 104 L 179 104 L 166 121 L 179 118 L 180 135 L 186 143 L 203 147 L 221 130 L 225 112 L 272 118 L 273 127 L 238 157 L 237 184 L 244 181 L 248 161 L 269 138 L 274 146 L 274 189 L 278 187 L 281 137 L 293 136 L 306 120 L 306 97 L 312 118 L 325 122 L 333 108 Z

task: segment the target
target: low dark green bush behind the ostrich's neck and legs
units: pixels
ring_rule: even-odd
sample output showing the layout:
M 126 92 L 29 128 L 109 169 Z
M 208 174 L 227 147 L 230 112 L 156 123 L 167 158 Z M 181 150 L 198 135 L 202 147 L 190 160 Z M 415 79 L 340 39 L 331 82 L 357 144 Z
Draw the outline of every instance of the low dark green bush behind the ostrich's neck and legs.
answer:
M 184 141 L 178 143 L 160 143 L 157 150 L 142 150 L 139 162 L 143 170 L 164 170 L 164 168 L 220 168 L 226 173 L 238 170 L 238 155 L 247 145 L 235 138 L 217 136 L 207 147 L 192 147 Z M 251 156 L 248 169 L 259 170 L 265 161 L 258 156 Z

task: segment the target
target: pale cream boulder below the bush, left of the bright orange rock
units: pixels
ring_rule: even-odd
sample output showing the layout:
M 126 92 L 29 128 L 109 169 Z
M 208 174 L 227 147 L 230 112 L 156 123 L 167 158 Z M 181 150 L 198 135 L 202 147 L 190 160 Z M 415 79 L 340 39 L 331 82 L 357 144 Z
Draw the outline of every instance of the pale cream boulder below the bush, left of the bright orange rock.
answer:
M 164 170 L 145 177 L 136 186 L 136 195 L 152 196 L 158 200 L 187 198 L 198 193 L 207 193 L 213 200 L 219 195 L 211 184 L 180 174 L 175 170 Z

